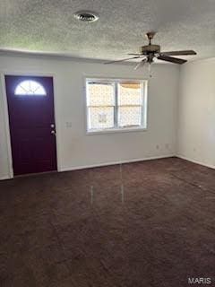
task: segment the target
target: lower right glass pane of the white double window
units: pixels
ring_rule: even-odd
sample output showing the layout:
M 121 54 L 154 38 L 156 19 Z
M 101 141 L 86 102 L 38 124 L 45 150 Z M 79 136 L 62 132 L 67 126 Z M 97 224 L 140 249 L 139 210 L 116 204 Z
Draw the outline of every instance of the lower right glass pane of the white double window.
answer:
M 118 108 L 118 126 L 141 126 L 141 120 L 142 106 Z

